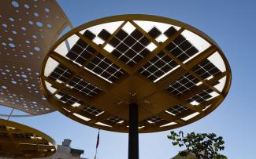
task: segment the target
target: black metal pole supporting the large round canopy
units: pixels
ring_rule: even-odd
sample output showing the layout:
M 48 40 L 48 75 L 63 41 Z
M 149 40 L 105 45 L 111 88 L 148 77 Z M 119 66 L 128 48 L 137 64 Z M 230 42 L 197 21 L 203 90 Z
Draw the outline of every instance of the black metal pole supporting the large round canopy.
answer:
M 128 159 L 139 159 L 139 116 L 138 104 L 129 105 L 129 147 Z

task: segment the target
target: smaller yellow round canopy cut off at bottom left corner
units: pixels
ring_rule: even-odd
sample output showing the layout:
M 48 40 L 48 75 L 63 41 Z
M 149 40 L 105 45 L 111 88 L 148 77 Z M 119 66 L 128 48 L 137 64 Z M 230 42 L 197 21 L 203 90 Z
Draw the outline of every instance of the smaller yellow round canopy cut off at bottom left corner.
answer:
M 43 132 L 0 119 L 0 157 L 49 157 L 57 144 Z

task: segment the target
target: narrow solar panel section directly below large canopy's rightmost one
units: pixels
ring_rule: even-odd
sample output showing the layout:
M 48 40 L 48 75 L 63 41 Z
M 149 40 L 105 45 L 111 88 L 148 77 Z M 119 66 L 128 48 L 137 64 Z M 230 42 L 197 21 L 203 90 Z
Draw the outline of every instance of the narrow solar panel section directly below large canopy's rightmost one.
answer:
M 191 103 L 195 101 L 197 103 L 203 103 L 207 99 L 210 99 L 213 97 L 210 95 L 211 92 L 213 92 L 212 89 L 205 89 L 202 92 L 199 92 L 198 94 L 196 94 L 195 96 L 192 96 L 190 99 L 187 99 L 187 102 Z

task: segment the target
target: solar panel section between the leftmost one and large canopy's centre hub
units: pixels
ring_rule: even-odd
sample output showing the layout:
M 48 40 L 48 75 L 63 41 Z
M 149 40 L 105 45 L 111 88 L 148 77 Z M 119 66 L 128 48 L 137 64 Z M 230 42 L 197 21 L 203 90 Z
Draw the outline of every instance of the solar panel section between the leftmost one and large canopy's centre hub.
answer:
M 91 85 L 88 81 L 83 80 L 79 76 L 76 76 L 69 82 L 69 87 L 76 89 L 78 92 L 82 92 L 85 96 L 93 97 L 101 92 L 95 85 Z

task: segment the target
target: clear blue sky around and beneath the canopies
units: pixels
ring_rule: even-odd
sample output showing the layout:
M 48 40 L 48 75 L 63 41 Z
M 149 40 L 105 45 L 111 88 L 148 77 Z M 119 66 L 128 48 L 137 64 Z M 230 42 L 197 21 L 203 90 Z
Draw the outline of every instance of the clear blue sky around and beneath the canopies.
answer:
M 234 0 L 58 0 L 76 27 L 90 20 L 117 14 L 142 13 L 166 16 L 189 23 L 208 34 L 221 46 L 232 68 L 232 87 L 221 106 L 191 125 L 177 128 L 184 132 L 214 132 L 223 136 L 222 154 L 231 159 L 254 159 L 256 143 L 256 1 Z M 11 118 L 38 128 L 54 138 L 72 139 L 72 146 L 94 158 L 97 129 L 81 125 L 54 112 L 39 117 Z M 140 159 L 168 159 L 180 150 L 167 139 L 169 131 L 139 135 Z M 128 156 L 128 135 L 102 131 L 99 159 Z

